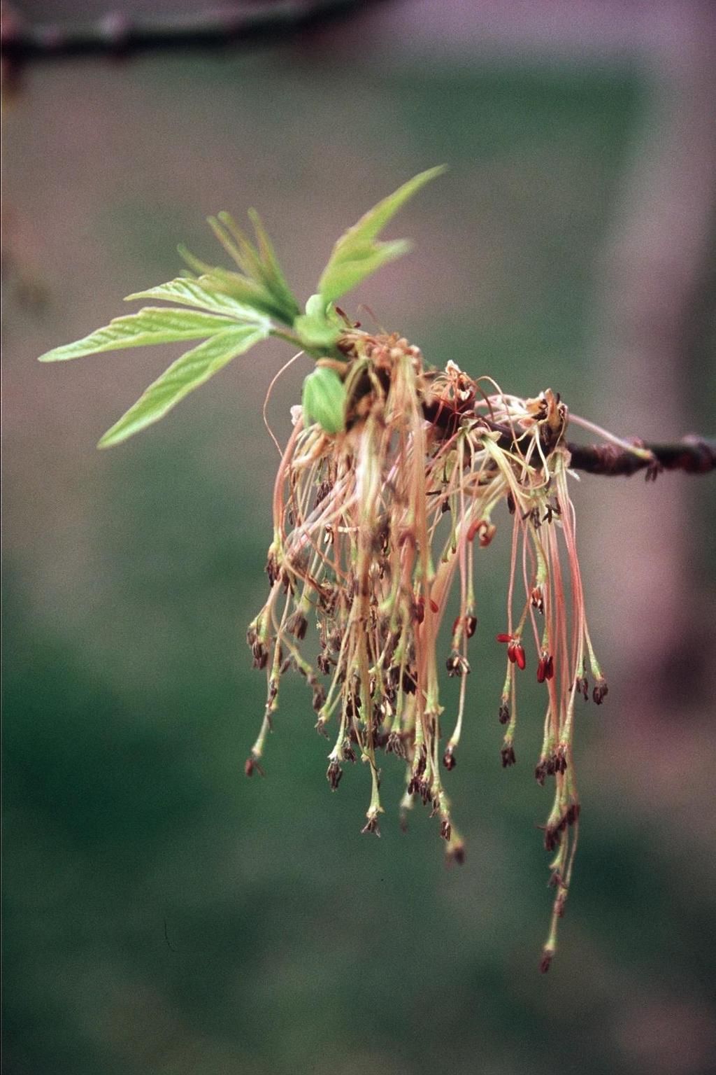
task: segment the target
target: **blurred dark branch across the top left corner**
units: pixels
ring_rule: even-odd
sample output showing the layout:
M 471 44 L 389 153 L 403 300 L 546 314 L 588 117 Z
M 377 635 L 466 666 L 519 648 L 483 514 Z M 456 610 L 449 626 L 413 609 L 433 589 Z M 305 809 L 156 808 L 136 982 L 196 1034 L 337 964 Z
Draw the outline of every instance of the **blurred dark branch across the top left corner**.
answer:
M 29 60 L 275 44 L 366 6 L 366 0 L 264 0 L 154 18 L 114 12 L 82 27 L 26 24 L 10 11 L 3 16 L 2 59 L 16 67 Z

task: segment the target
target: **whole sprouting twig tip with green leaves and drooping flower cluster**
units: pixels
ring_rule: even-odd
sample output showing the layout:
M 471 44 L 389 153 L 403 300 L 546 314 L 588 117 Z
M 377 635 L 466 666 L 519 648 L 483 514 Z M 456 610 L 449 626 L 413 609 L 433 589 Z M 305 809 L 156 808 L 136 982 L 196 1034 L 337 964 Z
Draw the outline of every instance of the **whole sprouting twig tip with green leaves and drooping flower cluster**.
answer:
M 266 675 L 266 706 L 246 772 L 263 772 L 281 678 L 297 671 L 312 694 L 316 728 L 331 740 L 331 788 L 338 788 L 347 763 L 360 760 L 369 773 L 363 832 L 380 835 L 379 758 L 381 751 L 393 755 L 405 768 L 401 820 L 414 803 L 427 805 L 438 819 L 448 861 L 461 862 L 465 854 L 445 782 L 457 761 L 470 639 L 480 612 L 476 558 L 488 556 L 498 521 L 511 528 L 506 617 L 496 639 L 506 647 L 506 675 L 495 710 L 505 728 L 501 763 L 509 768 L 516 760 L 518 680 L 534 675 L 542 685 L 544 732 L 535 776 L 554 788 L 543 827 L 555 889 L 545 971 L 579 831 L 575 704 L 589 697 L 599 704 L 607 696 L 576 556 L 568 411 L 549 389 L 522 399 L 489 377 L 472 379 L 453 361 L 436 370 L 397 333 L 362 331 L 336 305 L 406 252 L 405 242 L 379 242 L 378 235 L 441 171 L 430 169 L 404 184 L 342 235 L 304 312 L 258 215 L 250 214 L 252 242 L 220 214 L 209 223 L 238 271 L 207 266 L 184 250 L 190 272 L 129 297 L 175 305 L 116 318 L 42 360 L 193 342 L 104 434 L 102 447 L 161 418 L 267 336 L 287 340 L 316 360 L 274 487 L 268 598 L 248 630 L 253 663 Z M 647 476 L 656 473 L 651 449 L 572 420 L 607 443 L 595 449 L 595 469 L 609 464 L 616 472 L 616 446 L 626 472 L 646 467 Z M 677 458 L 670 450 L 664 460 Z M 685 458 L 690 453 L 692 465 L 684 469 L 713 464 L 707 445 L 680 450 Z M 438 653 L 453 591 L 458 614 L 448 650 Z M 459 679 L 456 714 L 445 714 L 440 704 L 445 672 Z

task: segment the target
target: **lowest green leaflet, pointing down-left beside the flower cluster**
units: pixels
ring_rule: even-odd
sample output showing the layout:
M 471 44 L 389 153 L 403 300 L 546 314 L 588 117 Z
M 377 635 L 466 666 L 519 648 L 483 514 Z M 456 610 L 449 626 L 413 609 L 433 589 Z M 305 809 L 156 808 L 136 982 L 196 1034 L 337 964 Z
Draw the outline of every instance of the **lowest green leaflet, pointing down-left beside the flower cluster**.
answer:
M 113 444 L 119 444 L 128 436 L 138 433 L 145 426 L 163 418 L 179 400 L 213 377 L 232 358 L 243 355 L 267 335 L 268 329 L 265 326 L 234 324 L 232 328 L 224 329 L 188 350 L 149 385 L 134 406 L 107 430 L 98 447 L 108 448 Z

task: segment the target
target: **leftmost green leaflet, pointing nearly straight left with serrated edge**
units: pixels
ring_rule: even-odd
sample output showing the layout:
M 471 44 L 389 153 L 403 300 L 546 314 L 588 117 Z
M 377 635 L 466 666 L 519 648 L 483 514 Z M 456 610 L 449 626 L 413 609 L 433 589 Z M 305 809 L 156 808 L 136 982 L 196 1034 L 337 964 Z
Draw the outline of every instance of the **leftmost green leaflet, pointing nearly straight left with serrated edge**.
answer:
M 176 340 L 202 340 L 236 326 L 235 318 L 217 317 L 194 310 L 167 310 L 145 306 L 137 314 L 115 317 L 102 329 L 83 340 L 54 347 L 40 356 L 41 362 L 63 362 L 70 358 L 96 355 L 103 350 L 143 347 L 147 344 L 174 343 Z

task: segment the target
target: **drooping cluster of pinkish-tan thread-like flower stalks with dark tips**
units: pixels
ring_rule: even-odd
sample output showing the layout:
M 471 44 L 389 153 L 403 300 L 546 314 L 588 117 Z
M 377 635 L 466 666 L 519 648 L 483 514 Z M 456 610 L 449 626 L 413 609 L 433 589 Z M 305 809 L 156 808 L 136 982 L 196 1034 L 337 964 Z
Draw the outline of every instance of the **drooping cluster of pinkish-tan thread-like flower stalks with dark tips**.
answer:
M 495 508 L 507 502 L 511 572 L 506 631 L 497 636 L 507 643 L 497 707 L 506 726 L 501 762 L 515 762 L 517 679 L 528 664 L 525 643 L 531 635 L 537 679 L 545 690 L 535 775 L 540 784 L 553 777 L 555 789 L 544 826 L 556 889 L 546 970 L 579 828 L 575 700 L 588 697 L 589 674 L 594 700 L 607 693 L 576 559 L 567 408 L 550 390 L 536 399 L 507 396 L 489 378 L 472 381 L 454 362 L 442 372 L 426 369 L 420 350 L 397 335 L 351 329 L 340 350 L 345 362 L 325 364 L 346 388 L 345 431 L 326 433 L 298 413 L 276 478 L 271 591 L 248 631 L 253 662 L 266 672 L 266 710 L 247 773 L 261 769 L 281 675 L 296 669 L 312 691 L 318 731 L 333 737 L 331 787 L 338 787 L 346 762 L 360 758 L 369 768 L 363 831 L 379 834 L 382 750 L 405 765 L 401 811 L 415 800 L 429 804 L 448 859 L 462 861 L 464 843 L 441 768 L 455 765 L 463 727 L 468 646 L 477 627 L 476 548 L 489 545 Z M 447 659 L 439 660 L 438 632 L 455 586 L 459 612 Z M 316 639 L 312 659 L 304 653 L 307 637 Z M 439 696 L 443 662 L 448 675 L 461 679 L 449 734 Z

